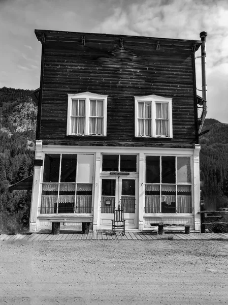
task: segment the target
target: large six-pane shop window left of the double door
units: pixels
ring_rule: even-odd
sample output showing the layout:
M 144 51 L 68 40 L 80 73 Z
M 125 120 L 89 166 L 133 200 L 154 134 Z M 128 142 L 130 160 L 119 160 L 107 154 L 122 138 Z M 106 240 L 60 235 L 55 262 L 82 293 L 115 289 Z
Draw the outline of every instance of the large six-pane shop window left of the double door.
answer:
M 91 213 L 92 175 L 93 155 L 46 154 L 40 213 Z

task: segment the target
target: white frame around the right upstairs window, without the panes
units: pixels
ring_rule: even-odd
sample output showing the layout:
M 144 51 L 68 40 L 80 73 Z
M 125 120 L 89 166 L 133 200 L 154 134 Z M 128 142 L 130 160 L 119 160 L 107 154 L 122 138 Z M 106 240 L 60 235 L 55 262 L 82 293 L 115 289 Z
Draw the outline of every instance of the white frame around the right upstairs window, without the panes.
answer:
M 138 125 L 139 102 L 151 103 L 151 136 L 139 135 L 139 125 Z M 168 103 L 169 136 L 156 135 L 156 103 Z M 157 95 L 135 96 L 135 137 L 136 138 L 173 138 L 172 98 L 165 98 Z

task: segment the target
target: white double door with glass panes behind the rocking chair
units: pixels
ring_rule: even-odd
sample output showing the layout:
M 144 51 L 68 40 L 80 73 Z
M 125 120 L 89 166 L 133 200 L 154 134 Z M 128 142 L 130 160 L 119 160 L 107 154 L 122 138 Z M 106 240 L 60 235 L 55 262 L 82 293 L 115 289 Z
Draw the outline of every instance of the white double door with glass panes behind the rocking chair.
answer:
M 124 212 L 126 229 L 138 228 L 137 179 L 129 177 L 102 178 L 101 227 L 111 225 L 114 209 Z

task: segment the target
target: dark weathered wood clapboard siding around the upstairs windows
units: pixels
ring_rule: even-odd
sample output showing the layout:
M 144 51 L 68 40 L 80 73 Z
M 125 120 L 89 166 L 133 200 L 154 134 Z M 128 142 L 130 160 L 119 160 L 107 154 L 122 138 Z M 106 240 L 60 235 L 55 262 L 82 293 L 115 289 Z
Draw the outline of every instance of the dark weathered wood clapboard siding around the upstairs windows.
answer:
M 39 134 L 44 144 L 193 147 L 197 142 L 191 48 L 199 41 L 85 34 L 82 46 L 83 33 L 39 33 L 46 36 Z M 68 94 L 86 91 L 108 95 L 106 137 L 66 136 Z M 134 96 L 151 94 L 173 98 L 173 139 L 135 138 Z

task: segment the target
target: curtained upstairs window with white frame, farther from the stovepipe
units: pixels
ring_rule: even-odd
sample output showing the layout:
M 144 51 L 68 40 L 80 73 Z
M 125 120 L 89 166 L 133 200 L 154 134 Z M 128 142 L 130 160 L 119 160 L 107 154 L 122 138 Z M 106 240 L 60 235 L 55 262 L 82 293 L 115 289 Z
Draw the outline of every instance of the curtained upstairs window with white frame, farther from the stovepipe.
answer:
M 90 92 L 69 94 L 67 135 L 106 136 L 107 97 Z

